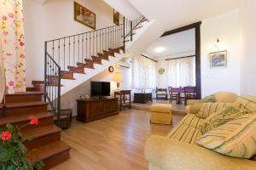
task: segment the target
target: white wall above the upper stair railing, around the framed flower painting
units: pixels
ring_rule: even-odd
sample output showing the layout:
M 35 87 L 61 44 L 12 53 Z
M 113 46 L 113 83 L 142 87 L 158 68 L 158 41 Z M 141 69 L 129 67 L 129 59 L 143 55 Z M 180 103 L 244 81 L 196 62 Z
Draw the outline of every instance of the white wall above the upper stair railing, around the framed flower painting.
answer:
M 96 13 L 96 29 L 113 26 L 113 8 L 102 0 L 76 2 Z M 44 77 L 44 41 L 91 31 L 73 20 L 73 0 L 23 1 L 26 36 L 27 85 Z

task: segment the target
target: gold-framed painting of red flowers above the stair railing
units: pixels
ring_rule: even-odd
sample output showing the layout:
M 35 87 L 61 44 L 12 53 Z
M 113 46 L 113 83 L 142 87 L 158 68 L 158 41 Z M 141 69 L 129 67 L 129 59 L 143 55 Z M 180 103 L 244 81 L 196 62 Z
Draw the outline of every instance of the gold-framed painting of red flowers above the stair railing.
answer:
M 96 14 L 76 2 L 74 2 L 74 20 L 91 29 L 96 29 Z

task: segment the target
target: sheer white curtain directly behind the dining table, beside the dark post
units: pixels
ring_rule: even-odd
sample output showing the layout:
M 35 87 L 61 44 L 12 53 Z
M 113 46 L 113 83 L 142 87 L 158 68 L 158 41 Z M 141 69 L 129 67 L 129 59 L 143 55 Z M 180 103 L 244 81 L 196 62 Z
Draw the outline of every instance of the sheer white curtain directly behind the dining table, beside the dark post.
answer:
M 168 60 L 166 73 L 168 86 L 195 86 L 195 57 Z

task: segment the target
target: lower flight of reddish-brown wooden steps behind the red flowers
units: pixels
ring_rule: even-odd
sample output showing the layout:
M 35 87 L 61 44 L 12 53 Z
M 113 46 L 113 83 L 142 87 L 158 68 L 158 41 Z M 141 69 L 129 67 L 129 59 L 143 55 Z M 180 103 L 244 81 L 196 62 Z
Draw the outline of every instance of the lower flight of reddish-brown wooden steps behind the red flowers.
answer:
M 29 116 L 38 116 L 38 126 L 28 126 L 21 133 L 25 139 L 33 137 L 31 142 L 25 142 L 26 157 L 31 161 L 40 158 L 44 169 L 49 169 L 69 159 L 70 147 L 61 142 L 61 129 L 54 125 L 54 115 L 47 111 L 48 103 L 42 100 L 43 95 L 42 92 L 6 94 L 0 104 L 0 127 L 7 122 L 21 126 L 29 122 Z

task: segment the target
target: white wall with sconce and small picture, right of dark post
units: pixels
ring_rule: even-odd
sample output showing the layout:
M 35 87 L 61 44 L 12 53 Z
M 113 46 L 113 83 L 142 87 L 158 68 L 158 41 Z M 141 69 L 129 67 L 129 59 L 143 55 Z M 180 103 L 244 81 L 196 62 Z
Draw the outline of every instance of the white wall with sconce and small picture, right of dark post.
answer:
M 255 6 L 254 6 L 255 7 Z M 222 43 L 219 50 L 228 50 L 227 68 L 211 69 L 209 53 L 216 51 L 217 38 Z M 254 60 L 255 61 L 255 60 Z M 202 20 L 201 25 L 201 87 L 202 96 L 217 91 L 240 94 L 239 10 Z M 255 62 L 254 62 L 255 63 Z

